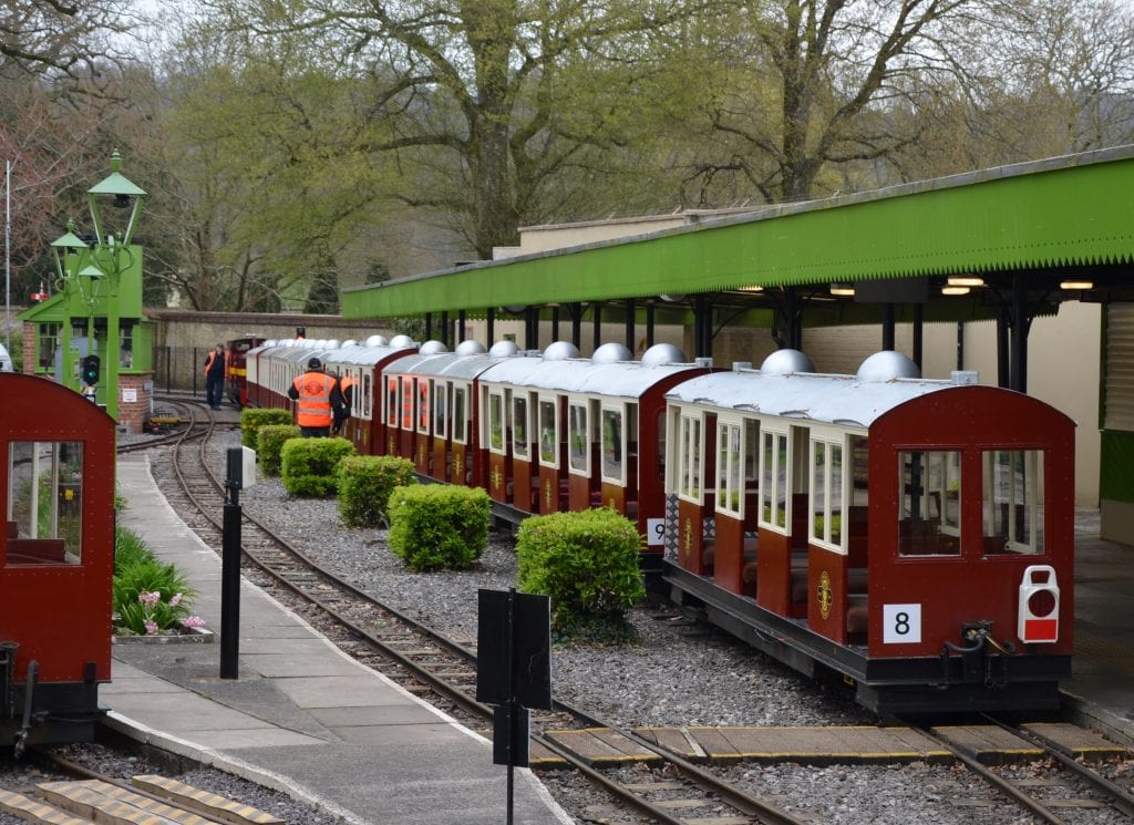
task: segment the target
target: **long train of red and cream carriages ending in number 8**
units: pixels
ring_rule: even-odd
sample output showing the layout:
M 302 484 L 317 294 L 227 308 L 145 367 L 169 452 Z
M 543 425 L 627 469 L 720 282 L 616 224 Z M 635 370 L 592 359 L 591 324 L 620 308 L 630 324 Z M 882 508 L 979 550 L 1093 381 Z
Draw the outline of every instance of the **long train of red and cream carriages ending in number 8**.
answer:
M 279 376 L 266 406 L 318 350 L 369 376 L 359 452 L 481 486 L 501 520 L 613 508 L 654 586 L 871 709 L 1059 705 L 1075 425 L 1036 399 L 897 352 L 822 375 L 795 350 L 723 371 L 667 345 L 328 343 L 249 352 L 249 381 Z

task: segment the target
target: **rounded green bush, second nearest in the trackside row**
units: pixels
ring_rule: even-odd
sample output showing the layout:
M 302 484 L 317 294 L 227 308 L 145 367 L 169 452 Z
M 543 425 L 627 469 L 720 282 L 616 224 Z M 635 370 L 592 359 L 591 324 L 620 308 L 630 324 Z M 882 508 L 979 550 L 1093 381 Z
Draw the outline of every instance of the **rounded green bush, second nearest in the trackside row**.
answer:
M 479 487 L 397 487 L 387 509 L 390 551 L 411 570 L 463 570 L 488 546 L 490 513 Z

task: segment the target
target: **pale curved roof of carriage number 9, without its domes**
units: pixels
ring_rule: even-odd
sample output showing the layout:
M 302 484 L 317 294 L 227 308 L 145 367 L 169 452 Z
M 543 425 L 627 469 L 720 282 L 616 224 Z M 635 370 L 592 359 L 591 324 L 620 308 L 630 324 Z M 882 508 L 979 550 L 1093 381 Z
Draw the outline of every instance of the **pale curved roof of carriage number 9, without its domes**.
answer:
M 595 364 L 590 358 L 511 358 L 488 369 L 481 381 L 534 390 L 641 398 L 662 379 L 693 368 L 693 364 L 645 366 L 640 362 Z

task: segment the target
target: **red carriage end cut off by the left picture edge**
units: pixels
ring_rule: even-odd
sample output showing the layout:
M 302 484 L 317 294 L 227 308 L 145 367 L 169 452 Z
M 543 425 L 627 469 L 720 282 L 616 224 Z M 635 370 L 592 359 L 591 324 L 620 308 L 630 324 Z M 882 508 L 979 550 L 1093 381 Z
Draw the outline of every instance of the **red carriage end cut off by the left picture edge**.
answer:
M 115 422 L 45 379 L 0 373 L 0 737 L 90 741 L 110 681 Z

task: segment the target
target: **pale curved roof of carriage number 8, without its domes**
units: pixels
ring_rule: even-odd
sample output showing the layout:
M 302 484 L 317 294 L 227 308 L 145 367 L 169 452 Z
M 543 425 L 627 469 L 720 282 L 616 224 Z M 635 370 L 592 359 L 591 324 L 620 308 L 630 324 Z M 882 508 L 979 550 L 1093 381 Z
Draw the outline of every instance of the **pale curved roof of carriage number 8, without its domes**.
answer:
M 691 379 L 666 393 L 670 401 L 760 415 L 869 427 L 883 412 L 914 398 L 955 386 L 949 381 L 860 381 L 853 375 L 759 371 L 721 372 Z

